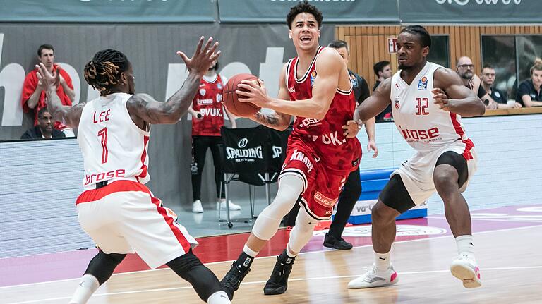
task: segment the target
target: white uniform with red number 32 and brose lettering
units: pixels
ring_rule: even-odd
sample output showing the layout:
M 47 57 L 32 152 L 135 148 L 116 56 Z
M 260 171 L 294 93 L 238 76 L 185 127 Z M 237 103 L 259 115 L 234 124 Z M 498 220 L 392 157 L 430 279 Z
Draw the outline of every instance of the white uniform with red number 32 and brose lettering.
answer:
M 433 75 L 438 68 L 428 62 L 408 85 L 398 71 L 392 78 L 392 114 L 397 130 L 416 150 L 414 157 L 404 162 L 393 174 L 401 178 L 416 205 L 425 202 L 435 192 L 433 170 L 444 152 L 462 154 L 469 167 L 469 178 L 476 171 L 474 144 L 464 131 L 461 116 L 439 109 L 433 100 Z M 392 175 L 393 175 L 392 174 Z M 462 190 L 466 188 L 464 183 Z

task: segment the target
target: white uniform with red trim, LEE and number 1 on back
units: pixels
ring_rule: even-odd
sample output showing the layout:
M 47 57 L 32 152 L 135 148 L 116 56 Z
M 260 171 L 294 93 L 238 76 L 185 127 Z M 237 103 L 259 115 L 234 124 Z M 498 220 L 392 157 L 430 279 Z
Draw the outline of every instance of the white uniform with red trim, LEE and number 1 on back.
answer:
M 114 93 L 83 108 L 77 140 L 83 153 L 85 191 L 76 201 L 78 219 L 104 253 L 135 251 L 156 268 L 198 243 L 144 185 L 150 178 L 150 130 L 133 123 L 126 108 L 131 96 Z M 96 189 L 102 181 L 108 181 L 107 186 Z

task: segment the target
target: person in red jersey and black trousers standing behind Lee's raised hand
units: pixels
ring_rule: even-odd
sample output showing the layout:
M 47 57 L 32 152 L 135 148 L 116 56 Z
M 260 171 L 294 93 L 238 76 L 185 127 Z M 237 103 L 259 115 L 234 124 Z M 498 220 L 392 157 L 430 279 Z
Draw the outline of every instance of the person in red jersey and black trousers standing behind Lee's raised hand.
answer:
M 192 115 L 192 212 L 202 213 L 201 206 L 201 174 L 205 166 L 207 148 L 211 149 L 212 162 L 215 165 L 215 186 L 217 188 L 217 207 L 226 209 L 222 181 L 222 161 L 220 147 L 222 138 L 220 128 L 224 126 L 224 113 L 229 118 L 231 128 L 237 128 L 235 117 L 222 104 L 222 87 L 227 79 L 217 74 L 218 61 L 211 63 L 209 70 L 200 83 L 200 90 L 195 94 L 188 113 Z M 230 210 L 241 210 L 241 206 L 229 202 Z

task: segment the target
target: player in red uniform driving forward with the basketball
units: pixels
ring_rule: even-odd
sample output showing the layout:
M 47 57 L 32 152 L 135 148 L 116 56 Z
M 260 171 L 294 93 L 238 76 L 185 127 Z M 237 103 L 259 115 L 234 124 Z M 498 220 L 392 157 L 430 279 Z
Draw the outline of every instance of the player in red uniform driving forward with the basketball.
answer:
M 291 8 L 287 24 L 298 56 L 282 69 L 277 99 L 267 96 L 259 80 L 239 85 L 248 92 L 236 91 L 246 97 L 244 101 L 274 110 L 272 114 L 258 112 L 248 117 L 258 123 L 284 130 L 291 116 L 296 120 L 277 196 L 258 216 L 243 252 L 221 281 L 231 297 L 250 271 L 254 257 L 277 232 L 282 217 L 301 198 L 287 248 L 277 257 L 264 287 L 266 295 L 287 290 L 296 255 L 313 236 L 318 221 L 330 219 L 344 181 L 359 160 L 354 155 L 361 153 L 355 151 L 359 147 L 356 139 L 346 138 L 342 128 L 353 117 L 356 104 L 351 80 L 339 53 L 318 44 L 322 19 L 322 13 L 307 1 Z

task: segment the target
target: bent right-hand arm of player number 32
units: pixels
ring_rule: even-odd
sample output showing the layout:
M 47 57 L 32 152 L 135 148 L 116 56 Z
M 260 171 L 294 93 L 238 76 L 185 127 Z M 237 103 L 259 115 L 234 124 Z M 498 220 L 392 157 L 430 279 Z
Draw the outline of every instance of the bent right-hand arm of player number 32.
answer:
M 481 116 L 486 112 L 482 100 L 463 85 L 461 78 L 454 71 L 439 68 L 435 71 L 434 79 L 433 99 L 440 109 L 464 117 Z

